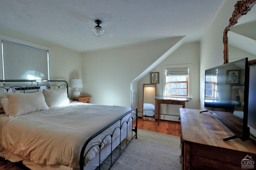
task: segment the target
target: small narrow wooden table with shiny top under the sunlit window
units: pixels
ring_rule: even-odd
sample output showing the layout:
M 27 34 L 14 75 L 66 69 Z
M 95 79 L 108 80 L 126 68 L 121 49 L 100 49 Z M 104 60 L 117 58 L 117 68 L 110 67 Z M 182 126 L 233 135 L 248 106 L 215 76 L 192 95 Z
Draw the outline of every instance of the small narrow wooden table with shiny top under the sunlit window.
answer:
M 169 97 L 169 96 L 157 96 L 155 97 L 156 105 L 158 107 L 157 112 L 157 122 L 158 125 L 160 123 L 161 111 L 160 111 L 160 104 L 177 104 L 182 105 L 182 108 L 185 108 L 185 102 L 189 101 L 189 98 L 176 98 L 176 97 Z

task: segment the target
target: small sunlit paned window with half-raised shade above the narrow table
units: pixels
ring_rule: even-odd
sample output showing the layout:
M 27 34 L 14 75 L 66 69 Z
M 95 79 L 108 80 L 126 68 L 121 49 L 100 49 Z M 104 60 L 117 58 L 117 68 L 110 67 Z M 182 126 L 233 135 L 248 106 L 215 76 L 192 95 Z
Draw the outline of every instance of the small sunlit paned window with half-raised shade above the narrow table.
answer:
M 166 96 L 189 96 L 189 68 L 166 68 Z

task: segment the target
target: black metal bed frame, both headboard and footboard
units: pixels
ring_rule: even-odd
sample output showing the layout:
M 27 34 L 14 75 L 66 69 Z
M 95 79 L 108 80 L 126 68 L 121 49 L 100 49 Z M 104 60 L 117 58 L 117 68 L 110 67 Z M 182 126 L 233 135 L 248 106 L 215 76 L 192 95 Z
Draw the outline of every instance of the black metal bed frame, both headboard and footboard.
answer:
M 60 88 L 61 86 L 66 86 L 66 88 L 67 88 L 67 94 L 68 94 L 68 82 L 66 82 L 65 80 L 0 80 L 0 82 L 2 82 L 3 83 L 3 86 L 0 86 L 0 88 L 4 88 L 5 90 L 6 90 L 6 92 L 8 92 L 11 88 L 17 88 L 18 90 L 23 90 L 23 92 L 25 93 L 26 92 L 26 90 L 30 90 L 30 89 L 37 89 L 37 91 L 39 92 L 40 91 L 40 87 L 42 87 L 42 86 L 46 86 L 48 89 L 50 89 L 52 86 L 54 86 L 54 87 L 58 87 L 58 88 Z M 18 82 L 30 82 L 31 84 L 30 85 L 14 85 L 14 84 L 9 84 L 9 83 L 14 83 L 14 82 L 16 82 L 16 83 L 18 83 Z M 46 85 L 46 84 L 42 84 L 42 85 L 40 85 L 42 82 L 48 82 L 48 85 Z M 64 84 L 61 84 L 60 86 L 58 86 L 58 85 L 56 85 L 56 84 L 51 84 L 51 82 L 62 82 L 62 83 L 64 83 Z M 6 87 L 6 85 L 8 85 L 8 88 Z M 127 120 L 127 121 L 124 121 L 124 122 L 122 122 L 122 119 L 126 116 L 126 115 L 128 115 L 128 114 L 130 114 L 131 112 L 135 112 L 135 116 L 136 116 L 136 126 L 133 128 L 132 126 L 131 126 L 131 133 L 132 133 L 132 136 L 131 136 L 131 138 L 130 139 L 128 139 L 128 121 L 131 119 L 132 120 L 132 122 L 133 122 L 133 120 L 134 120 L 134 117 L 133 116 L 131 116 L 131 117 L 129 117 L 129 119 Z M 128 111 L 127 113 L 125 113 L 124 115 L 122 115 L 121 117 L 119 117 L 118 119 L 116 119 L 115 121 L 113 121 L 112 123 L 110 123 L 109 125 L 107 125 L 106 127 L 104 127 L 103 129 L 101 129 L 100 131 L 98 131 L 98 132 L 96 132 L 94 135 L 92 135 L 91 137 L 89 137 L 86 141 L 85 141 L 85 143 L 84 143 L 84 145 L 83 145 L 83 147 L 82 147 L 82 149 L 81 149 L 81 152 L 80 152 L 80 160 L 79 160 L 79 166 L 80 166 L 80 170 L 84 170 L 84 168 L 86 168 L 86 166 L 84 166 L 85 165 L 85 158 L 86 158 L 86 154 L 89 152 L 89 150 L 90 149 L 88 149 L 88 151 L 85 153 L 85 150 L 86 150 L 86 147 L 87 147 L 87 145 L 88 145 L 88 143 L 92 140 L 92 139 L 94 139 L 95 137 L 97 137 L 98 135 L 100 135 L 102 132 L 104 132 L 106 129 L 108 129 L 109 127 L 111 127 L 112 125 L 114 125 L 115 123 L 117 123 L 117 122 L 120 122 L 120 126 L 119 127 L 116 127 L 114 130 L 113 130 L 113 132 L 112 132 L 112 134 L 107 134 L 103 139 L 102 139 L 102 141 L 101 141 L 101 143 L 100 144 L 98 144 L 98 145 L 93 145 L 92 147 L 90 147 L 90 149 L 92 149 L 93 147 L 98 147 L 99 148 L 99 166 L 98 166 L 98 168 L 100 169 L 100 166 L 101 166 L 101 163 L 103 162 L 101 162 L 100 161 L 100 154 L 101 154 L 101 146 L 102 146 L 102 142 L 104 141 L 104 139 L 106 139 L 106 137 L 108 137 L 108 136 L 110 136 L 111 137 L 111 153 L 110 153 L 110 156 L 111 156 L 111 158 L 110 158 L 110 167 L 108 168 L 108 169 L 111 169 L 112 168 L 112 166 L 114 165 L 114 163 L 118 160 L 118 158 L 121 156 L 121 154 L 122 154 L 122 152 L 124 152 L 124 150 L 128 147 L 128 145 L 130 144 L 130 142 L 134 139 L 134 137 L 135 137 L 135 139 L 137 139 L 137 127 L 138 127 L 138 109 L 136 108 L 136 107 L 134 107 L 133 109 L 131 109 L 130 111 Z M 126 137 L 124 138 L 124 140 L 126 140 L 126 145 L 124 146 L 124 148 L 121 150 L 121 142 L 123 141 L 123 140 L 121 140 L 121 129 L 122 129 L 122 127 L 123 127 L 123 125 L 124 125 L 124 123 L 126 123 L 126 125 L 127 125 L 127 128 L 126 128 Z M 114 132 L 117 130 L 117 129 L 120 129 L 120 136 L 119 136 L 119 155 L 114 159 L 114 160 L 112 160 L 112 150 L 113 150 L 113 148 L 112 148 L 112 143 L 113 143 L 113 134 L 114 134 Z M 133 132 L 134 132 L 134 134 L 133 134 Z

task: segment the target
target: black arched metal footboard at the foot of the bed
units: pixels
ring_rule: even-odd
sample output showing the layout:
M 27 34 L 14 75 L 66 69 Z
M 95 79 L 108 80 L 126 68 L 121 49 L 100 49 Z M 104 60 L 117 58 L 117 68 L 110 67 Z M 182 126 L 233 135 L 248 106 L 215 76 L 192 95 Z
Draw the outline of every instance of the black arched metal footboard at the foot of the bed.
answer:
M 133 128 L 132 127 L 132 125 L 131 125 L 131 133 L 132 133 L 132 137 L 131 137 L 131 139 L 128 139 L 128 128 L 126 128 L 126 139 L 124 139 L 124 140 L 126 140 L 126 145 L 125 145 L 125 147 L 121 150 L 121 142 L 122 142 L 122 139 L 121 139 L 121 129 L 122 129 L 122 127 L 123 127 L 123 125 L 124 125 L 124 123 L 126 123 L 127 125 L 128 125 L 128 121 L 129 121 L 129 119 L 127 120 L 127 121 L 123 121 L 122 122 L 122 119 L 126 116 L 126 115 L 128 115 L 128 114 L 130 114 L 130 113 L 132 113 L 132 112 L 135 112 L 135 114 L 133 115 L 133 116 L 131 116 L 131 117 L 129 117 L 129 119 L 131 119 L 132 120 L 132 124 L 133 124 L 133 120 L 134 120 L 134 116 L 136 116 L 136 126 Z M 85 150 L 87 149 L 86 147 L 87 147 L 87 145 L 88 145 L 88 143 L 92 140 L 92 139 L 94 139 L 95 137 L 97 137 L 98 135 L 100 135 L 102 132 L 104 132 L 106 129 L 108 129 L 109 127 L 111 127 L 112 125 L 114 125 L 115 123 L 117 123 L 117 122 L 120 122 L 120 126 L 119 127 L 116 127 L 115 129 L 114 129 L 114 131 L 116 131 L 116 129 L 120 129 L 120 141 L 119 141 L 119 155 L 115 158 L 115 160 L 112 160 L 112 150 L 114 149 L 114 148 L 112 148 L 112 137 L 113 137 L 113 133 L 114 133 L 114 131 L 112 132 L 112 134 L 108 134 L 108 135 L 106 135 L 103 139 L 102 139 L 102 142 L 104 141 L 104 139 L 106 138 L 106 137 L 108 137 L 108 136 L 110 136 L 111 137 L 111 153 L 110 153 L 110 156 L 111 156 L 111 159 L 110 159 L 110 167 L 109 167 L 109 169 L 114 165 L 114 163 L 116 162 L 116 160 L 118 160 L 118 158 L 120 157 L 120 155 L 122 154 L 122 152 L 124 152 L 124 150 L 126 149 L 126 147 L 130 144 L 130 142 L 132 141 L 132 139 L 134 139 L 134 137 L 137 139 L 137 127 L 138 127 L 138 109 L 135 107 L 134 109 L 131 109 L 130 111 L 128 111 L 127 113 L 125 113 L 122 117 L 120 117 L 120 118 L 118 118 L 118 119 L 116 119 L 115 121 L 113 121 L 112 123 L 110 123 L 109 125 L 107 125 L 106 127 L 104 127 L 103 129 L 101 129 L 100 131 L 98 131 L 97 133 L 95 133 L 94 135 L 92 135 L 91 137 L 89 137 L 88 139 L 87 139 L 87 141 L 84 143 L 84 145 L 83 145 L 83 147 L 82 147 L 82 149 L 81 149 L 81 152 L 80 152 L 80 160 L 79 160 L 79 166 L 80 166 L 80 170 L 84 170 L 84 168 L 86 167 L 86 166 L 84 166 L 85 165 L 85 160 L 86 160 L 86 154 L 89 152 L 89 150 L 90 149 L 92 149 L 93 147 L 98 147 L 99 148 L 99 154 L 98 154 L 98 156 L 99 156 L 99 169 L 100 169 L 100 166 L 101 166 L 101 163 L 102 162 L 100 162 L 100 152 L 101 152 L 101 143 L 100 144 L 98 144 L 98 145 L 93 145 L 92 147 L 90 147 L 90 149 L 88 149 L 88 151 L 85 153 Z M 128 127 L 128 126 L 126 126 L 126 127 Z M 134 132 L 134 134 L 133 134 L 133 132 Z

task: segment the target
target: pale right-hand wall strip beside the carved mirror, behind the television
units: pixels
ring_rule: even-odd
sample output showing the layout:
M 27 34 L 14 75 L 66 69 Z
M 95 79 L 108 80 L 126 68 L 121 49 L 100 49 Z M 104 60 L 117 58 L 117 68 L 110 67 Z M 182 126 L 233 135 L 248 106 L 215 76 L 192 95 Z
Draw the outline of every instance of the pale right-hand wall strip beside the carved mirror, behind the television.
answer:
M 205 70 L 224 63 L 223 32 L 232 17 L 236 0 L 224 0 L 218 14 L 210 23 L 200 41 L 200 101 L 204 108 Z

